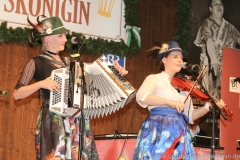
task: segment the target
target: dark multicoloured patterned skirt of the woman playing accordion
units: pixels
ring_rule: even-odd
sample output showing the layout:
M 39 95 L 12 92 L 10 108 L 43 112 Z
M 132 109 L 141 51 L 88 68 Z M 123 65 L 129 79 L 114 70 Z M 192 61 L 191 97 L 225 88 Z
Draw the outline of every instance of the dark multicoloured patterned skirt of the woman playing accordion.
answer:
M 98 160 L 97 148 L 92 136 L 90 121 L 84 118 L 82 151 L 79 153 L 80 118 L 64 118 L 49 111 L 43 104 L 37 120 L 37 160 Z

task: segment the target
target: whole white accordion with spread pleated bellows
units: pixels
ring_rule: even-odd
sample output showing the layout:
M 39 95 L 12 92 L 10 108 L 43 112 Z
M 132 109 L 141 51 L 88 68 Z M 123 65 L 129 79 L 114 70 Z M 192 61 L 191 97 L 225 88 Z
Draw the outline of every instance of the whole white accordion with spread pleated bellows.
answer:
M 49 108 L 64 117 L 77 117 L 81 111 L 89 118 L 108 115 L 124 107 L 136 94 L 104 55 L 93 63 L 84 63 L 84 70 L 79 62 L 71 62 L 69 71 L 54 70 L 52 78 L 56 81 L 59 77 L 61 91 L 50 92 Z

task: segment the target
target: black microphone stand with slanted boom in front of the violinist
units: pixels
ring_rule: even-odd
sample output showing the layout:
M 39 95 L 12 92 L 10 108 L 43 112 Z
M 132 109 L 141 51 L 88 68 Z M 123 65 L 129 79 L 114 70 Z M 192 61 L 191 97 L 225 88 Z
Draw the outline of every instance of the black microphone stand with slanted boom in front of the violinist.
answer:
M 209 99 L 210 99 L 210 103 L 213 104 L 212 108 L 210 109 L 210 111 L 212 112 L 212 138 L 211 138 L 211 156 L 210 159 L 214 160 L 215 159 L 215 116 L 216 116 L 216 111 L 219 111 L 219 113 L 221 114 L 221 116 L 223 117 L 224 120 L 227 120 L 227 117 L 221 112 L 220 108 L 217 106 L 215 100 L 213 100 L 213 97 L 207 92 L 206 88 L 202 85 L 202 83 L 199 82 L 198 79 L 196 79 L 196 77 L 193 75 L 193 73 L 191 72 L 191 70 L 188 70 L 189 73 L 191 73 L 192 77 L 198 81 L 198 84 L 200 84 L 201 88 L 204 91 L 204 94 L 206 94 Z

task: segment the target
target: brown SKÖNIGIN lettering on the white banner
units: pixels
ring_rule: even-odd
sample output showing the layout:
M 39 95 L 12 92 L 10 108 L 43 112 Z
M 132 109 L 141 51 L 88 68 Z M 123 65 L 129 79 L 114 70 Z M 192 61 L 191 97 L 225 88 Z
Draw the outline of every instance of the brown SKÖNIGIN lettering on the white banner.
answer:
M 9 0 L 4 4 L 4 12 L 30 16 L 60 16 L 65 22 L 89 25 L 90 7 L 90 2 L 76 0 Z

